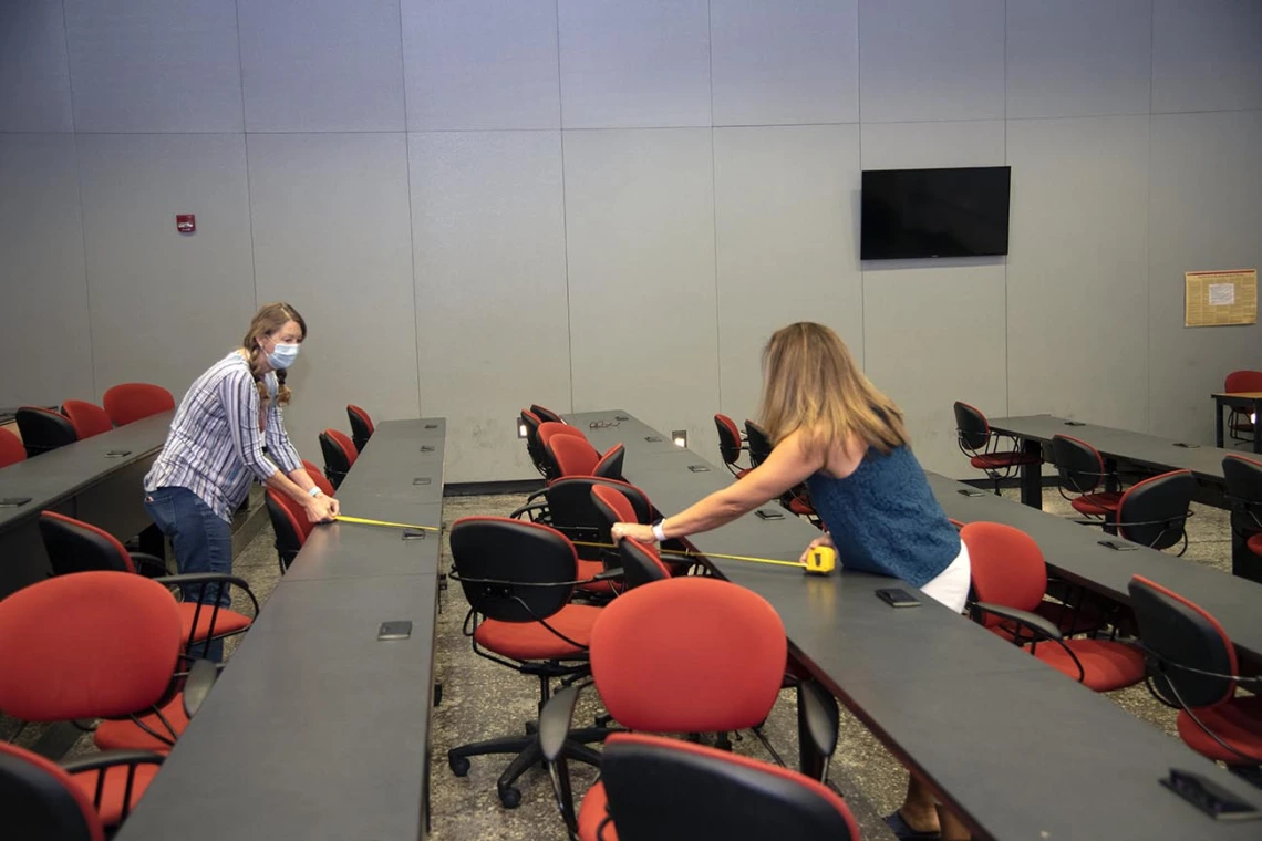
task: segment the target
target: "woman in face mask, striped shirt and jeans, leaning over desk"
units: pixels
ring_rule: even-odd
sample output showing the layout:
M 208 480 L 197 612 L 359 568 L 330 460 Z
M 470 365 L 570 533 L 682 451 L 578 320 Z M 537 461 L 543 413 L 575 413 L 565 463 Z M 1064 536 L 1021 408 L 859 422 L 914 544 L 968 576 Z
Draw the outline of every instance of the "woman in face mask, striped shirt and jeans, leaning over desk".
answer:
M 276 372 L 293 364 L 305 338 L 298 310 L 266 304 L 241 347 L 198 377 L 175 410 L 167 444 L 145 475 L 145 511 L 170 538 L 180 572 L 232 571 L 228 523 L 256 479 L 302 503 L 313 523 L 337 516 L 337 501 L 303 469 L 280 412 L 290 392 Z M 227 588 L 217 585 L 184 598 L 231 603 Z M 213 643 L 208 657 L 221 656 L 222 643 Z

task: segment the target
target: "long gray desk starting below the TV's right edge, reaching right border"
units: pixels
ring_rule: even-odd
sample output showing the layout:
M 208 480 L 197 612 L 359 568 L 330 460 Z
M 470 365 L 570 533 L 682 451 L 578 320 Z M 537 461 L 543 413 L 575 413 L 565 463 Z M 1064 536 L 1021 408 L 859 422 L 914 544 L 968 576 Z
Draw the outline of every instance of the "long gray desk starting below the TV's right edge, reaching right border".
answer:
M 991 429 L 1018 439 L 1027 453 L 1047 455 L 1047 461 L 1051 459 L 1044 445 L 1050 445 L 1054 435 L 1069 435 L 1099 450 L 1111 468 L 1121 464 L 1135 465 L 1148 473 L 1191 470 L 1196 477 L 1198 492 L 1194 498 L 1198 502 L 1217 508 L 1229 507 L 1224 498 L 1227 482 L 1223 478 L 1223 458 L 1239 455 L 1237 450 L 1201 446 L 1195 441 L 1175 441 L 1112 426 L 1082 424 L 1053 415 L 997 417 L 991 421 Z M 1035 508 L 1042 507 L 1041 467 L 1023 465 L 1020 475 L 1021 502 Z M 1252 581 L 1262 581 L 1262 559 L 1244 546 L 1242 536 L 1249 527 L 1252 521 L 1242 514 L 1232 514 L 1232 572 Z

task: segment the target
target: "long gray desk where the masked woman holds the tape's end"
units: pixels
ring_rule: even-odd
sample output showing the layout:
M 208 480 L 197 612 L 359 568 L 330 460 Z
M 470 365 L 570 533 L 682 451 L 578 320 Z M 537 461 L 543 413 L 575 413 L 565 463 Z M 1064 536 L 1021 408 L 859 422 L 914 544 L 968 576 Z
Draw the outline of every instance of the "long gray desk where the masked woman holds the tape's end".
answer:
M 377 426 L 342 512 L 439 527 L 444 436 L 442 419 Z M 425 837 L 440 546 L 318 527 L 119 841 Z M 411 637 L 379 641 L 394 620 Z

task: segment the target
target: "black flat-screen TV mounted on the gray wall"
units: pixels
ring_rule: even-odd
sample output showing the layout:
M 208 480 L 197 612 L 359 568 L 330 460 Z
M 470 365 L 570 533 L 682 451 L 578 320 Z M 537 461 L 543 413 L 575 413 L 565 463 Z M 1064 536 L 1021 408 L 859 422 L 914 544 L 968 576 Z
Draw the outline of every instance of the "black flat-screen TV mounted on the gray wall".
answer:
M 859 258 L 1008 252 L 1011 166 L 863 171 Z

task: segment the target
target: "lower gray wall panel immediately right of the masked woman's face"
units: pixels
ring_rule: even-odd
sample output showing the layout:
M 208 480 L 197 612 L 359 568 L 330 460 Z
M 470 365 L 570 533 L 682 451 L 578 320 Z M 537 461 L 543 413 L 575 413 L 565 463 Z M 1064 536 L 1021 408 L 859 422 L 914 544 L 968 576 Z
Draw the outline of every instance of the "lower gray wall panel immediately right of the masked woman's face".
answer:
M 374 420 L 420 409 L 406 139 L 250 135 L 249 151 L 257 298 L 307 319 L 286 417 L 299 451 L 319 461 L 317 435 L 350 429 L 347 403 Z

